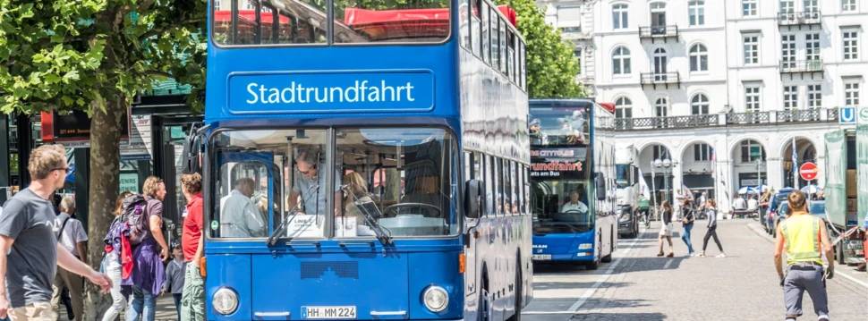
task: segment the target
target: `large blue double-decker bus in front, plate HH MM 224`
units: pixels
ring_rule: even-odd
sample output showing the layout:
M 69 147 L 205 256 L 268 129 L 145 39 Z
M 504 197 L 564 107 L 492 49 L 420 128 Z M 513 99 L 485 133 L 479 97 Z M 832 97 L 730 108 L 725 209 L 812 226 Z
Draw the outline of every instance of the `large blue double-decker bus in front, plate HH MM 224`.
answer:
M 208 320 L 521 317 L 532 234 L 514 11 L 209 8 L 205 124 L 185 143 L 204 176 Z

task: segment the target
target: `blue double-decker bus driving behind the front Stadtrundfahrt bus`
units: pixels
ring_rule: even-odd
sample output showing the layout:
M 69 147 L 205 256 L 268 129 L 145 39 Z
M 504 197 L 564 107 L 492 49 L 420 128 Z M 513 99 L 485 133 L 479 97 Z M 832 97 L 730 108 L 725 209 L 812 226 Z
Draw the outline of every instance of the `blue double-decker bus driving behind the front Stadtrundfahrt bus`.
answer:
M 615 117 L 592 99 L 530 110 L 532 259 L 597 269 L 617 248 Z

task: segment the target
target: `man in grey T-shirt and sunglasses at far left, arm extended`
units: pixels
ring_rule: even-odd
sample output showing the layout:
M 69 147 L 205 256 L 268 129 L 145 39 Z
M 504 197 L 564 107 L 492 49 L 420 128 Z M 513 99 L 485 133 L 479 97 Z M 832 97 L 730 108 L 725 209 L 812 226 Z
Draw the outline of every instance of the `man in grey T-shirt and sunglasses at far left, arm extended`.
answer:
M 57 242 L 55 210 L 48 199 L 64 187 L 69 170 L 63 146 L 33 149 L 27 166 L 33 181 L 4 205 L 0 215 L 0 318 L 55 321 L 51 286 L 57 266 L 87 276 L 104 292 L 112 286 L 107 275 L 92 270 Z

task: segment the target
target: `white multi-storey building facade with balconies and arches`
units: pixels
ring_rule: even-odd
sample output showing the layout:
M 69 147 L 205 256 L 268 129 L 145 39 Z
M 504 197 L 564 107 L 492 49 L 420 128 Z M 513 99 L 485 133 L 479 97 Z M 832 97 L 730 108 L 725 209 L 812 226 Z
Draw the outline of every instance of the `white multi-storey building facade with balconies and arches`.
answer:
M 796 185 L 816 163 L 838 108 L 865 106 L 868 0 L 596 0 L 540 2 L 575 43 L 577 77 L 616 105 L 617 139 L 675 164 L 657 190 Z M 808 182 L 797 182 L 804 187 Z M 661 186 L 662 185 L 662 186 Z M 674 187 L 674 188 L 673 188 Z

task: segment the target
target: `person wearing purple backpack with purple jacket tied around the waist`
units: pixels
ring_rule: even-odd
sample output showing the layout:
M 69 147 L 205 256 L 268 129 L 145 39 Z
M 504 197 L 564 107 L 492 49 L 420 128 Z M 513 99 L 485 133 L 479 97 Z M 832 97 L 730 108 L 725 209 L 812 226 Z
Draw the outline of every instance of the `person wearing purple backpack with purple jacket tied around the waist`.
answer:
M 132 245 L 132 273 L 123 280 L 123 294 L 132 292 L 130 308 L 126 312 L 127 321 L 154 321 L 157 312 L 157 296 L 166 281 L 166 266 L 169 246 L 163 237 L 163 199 L 166 198 L 166 184 L 151 176 L 142 185 L 144 197 L 133 194 L 124 199 L 126 206 L 124 221 L 130 225 L 130 244 Z

